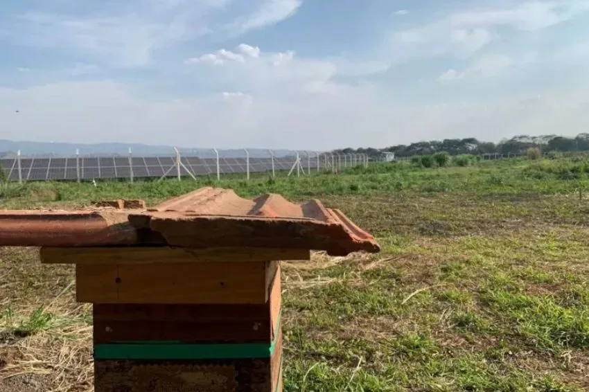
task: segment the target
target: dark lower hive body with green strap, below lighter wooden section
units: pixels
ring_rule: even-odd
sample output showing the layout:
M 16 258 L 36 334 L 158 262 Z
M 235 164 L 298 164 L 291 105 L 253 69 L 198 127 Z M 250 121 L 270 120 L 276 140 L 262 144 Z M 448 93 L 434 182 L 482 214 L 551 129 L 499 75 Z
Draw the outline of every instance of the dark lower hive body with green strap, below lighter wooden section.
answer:
M 278 263 L 268 271 L 261 303 L 94 303 L 94 390 L 282 391 Z

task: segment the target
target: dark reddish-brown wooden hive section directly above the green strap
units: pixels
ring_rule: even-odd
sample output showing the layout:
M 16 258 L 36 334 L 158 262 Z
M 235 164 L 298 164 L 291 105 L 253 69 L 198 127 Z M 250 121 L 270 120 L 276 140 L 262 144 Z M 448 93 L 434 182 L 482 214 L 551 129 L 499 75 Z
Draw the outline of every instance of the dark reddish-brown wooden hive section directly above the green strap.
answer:
M 281 276 L 262 304 L 94 304 L 94 344 L 116 341 L 270 342 L 281 326 Z

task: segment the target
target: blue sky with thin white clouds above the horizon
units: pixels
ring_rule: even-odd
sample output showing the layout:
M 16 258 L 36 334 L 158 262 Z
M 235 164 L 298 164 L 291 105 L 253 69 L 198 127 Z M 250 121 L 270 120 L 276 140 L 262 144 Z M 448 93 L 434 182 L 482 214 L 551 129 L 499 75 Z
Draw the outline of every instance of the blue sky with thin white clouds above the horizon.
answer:
M 589 131 L 588 0 L 2 8 L 1 139 L 324 150 Z

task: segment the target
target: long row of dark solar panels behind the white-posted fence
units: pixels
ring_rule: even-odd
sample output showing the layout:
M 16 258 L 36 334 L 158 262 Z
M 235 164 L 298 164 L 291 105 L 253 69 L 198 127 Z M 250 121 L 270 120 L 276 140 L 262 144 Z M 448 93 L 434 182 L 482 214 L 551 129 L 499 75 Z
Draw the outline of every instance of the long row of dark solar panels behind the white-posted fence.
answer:
M 274 157 L 275 170 L 290 170 L 296 157 Z M 186 169 L 180 166 L 180 175 L 216 175 L 216 158 L 182 157 Z M 301 157 L 304 168 L 317 168 L 317 159 Z M 11 181 L 19 180 L 17 159 L 0 159 L 0 165 Z M 245 158 L 219 158 L 220 174 L 245 173 Z M 272 158 L 250 158 L 249 172 L 272 170 Z M 23 181 L 58 181 L 78 179 L 130 179 L 177 176 L 173 157 L 80 157 L 80 158 L 21 158 L 20 172 Z

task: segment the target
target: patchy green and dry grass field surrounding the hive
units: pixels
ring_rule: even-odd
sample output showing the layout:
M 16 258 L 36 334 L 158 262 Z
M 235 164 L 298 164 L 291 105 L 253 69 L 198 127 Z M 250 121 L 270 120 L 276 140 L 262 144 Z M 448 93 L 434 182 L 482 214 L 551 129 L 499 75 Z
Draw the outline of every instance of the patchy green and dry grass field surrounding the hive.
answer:
M 317 197 L 383 247 L 285 263 L 285 391 L 588 391 L 589 163 L 387 163 L 338 175 L 26 184 L 0 208 L 150 204 L 203 185 Z M 91 390 L 73 269 L 0 248 L 0 392 Z

